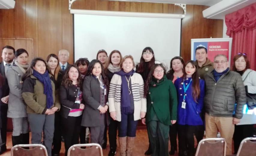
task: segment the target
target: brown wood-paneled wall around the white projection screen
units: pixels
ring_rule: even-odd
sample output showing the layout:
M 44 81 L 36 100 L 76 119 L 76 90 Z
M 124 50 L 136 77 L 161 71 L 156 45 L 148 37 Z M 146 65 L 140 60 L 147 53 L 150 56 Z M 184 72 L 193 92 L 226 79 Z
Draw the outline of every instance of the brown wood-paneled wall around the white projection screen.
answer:
M 191 38 L 222 37 L 223 21 L 203 18 L 207 6 L 187 5 L 182 20 L 181 56 L 190 59 Z M 149 13 L 183 13 L 174 4 L 107 0 L 77 0 L 72 9 Z M 46 58 L 59 50 L 70 52 L 73 63 L 73 16 L 68 0 L 16 0 L 14 9 L 0 9 L 0 38 L 32 38 L 35 56 Z M 171 58 L 170 58 L 171 59 Z

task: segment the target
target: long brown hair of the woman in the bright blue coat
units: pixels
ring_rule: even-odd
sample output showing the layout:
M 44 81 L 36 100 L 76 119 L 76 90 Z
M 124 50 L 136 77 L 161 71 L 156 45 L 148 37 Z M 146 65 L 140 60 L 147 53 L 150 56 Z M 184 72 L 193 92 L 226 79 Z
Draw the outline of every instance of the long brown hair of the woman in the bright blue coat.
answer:
M 187 66 L 187 64 L 191 63 L 192 66 L 196 69 L 196 64 L 195 61 L 190 60 L 185 64 L 185 67 Z M 187 73 L 185 71 L 185 68 L 183 68 L 183 80 L 185 80 L 185 78 L 187 77 Z M 192 74 L 192 96 L 194 98 L 194 101 L 196 101 L 197 103 L 197 98 L 200 95 L 200 84 L 199 84 L 199 75 L 197 72 L 197 69 L 195 70 L 195 72 Z

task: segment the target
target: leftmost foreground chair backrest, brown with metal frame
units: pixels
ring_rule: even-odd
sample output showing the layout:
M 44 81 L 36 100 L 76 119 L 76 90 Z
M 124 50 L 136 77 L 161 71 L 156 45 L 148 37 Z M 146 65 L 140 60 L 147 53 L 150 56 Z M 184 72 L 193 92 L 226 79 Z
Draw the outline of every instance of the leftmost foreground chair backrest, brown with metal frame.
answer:
M 20 144 L 11 149 L 11 156 L 48 156 L 46 147 L 42 144 Z

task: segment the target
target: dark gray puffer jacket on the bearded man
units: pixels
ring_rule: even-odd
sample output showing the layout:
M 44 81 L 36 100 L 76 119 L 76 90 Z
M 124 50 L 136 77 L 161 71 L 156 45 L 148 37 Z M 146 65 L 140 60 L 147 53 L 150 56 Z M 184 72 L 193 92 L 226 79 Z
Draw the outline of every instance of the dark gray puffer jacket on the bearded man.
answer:
M 216 83 L 213 71 L 205 75 L 204 106 L 212 116 L 242 118 L 242 107 L 246 104 L 245 87 L 241 75 L 230 69 Z M 233 115 L 235 103 L 236 112 Z

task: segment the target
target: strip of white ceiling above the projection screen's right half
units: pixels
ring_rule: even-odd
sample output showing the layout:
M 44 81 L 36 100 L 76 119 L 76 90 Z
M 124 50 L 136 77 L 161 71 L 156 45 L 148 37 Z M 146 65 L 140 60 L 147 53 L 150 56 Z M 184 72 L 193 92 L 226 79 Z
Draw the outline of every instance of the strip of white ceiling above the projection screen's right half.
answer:
M 110 0 L 112 1 L 112 0 Z M 181 3 L 181 4 L 197 4 L 212 6 L 222 0 L 114 0 L 114 1 L 137 1 L 137 2 L 154 2 L 154 3 Z

